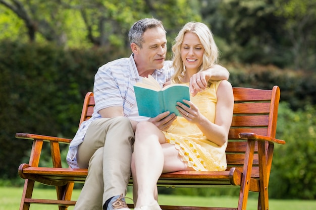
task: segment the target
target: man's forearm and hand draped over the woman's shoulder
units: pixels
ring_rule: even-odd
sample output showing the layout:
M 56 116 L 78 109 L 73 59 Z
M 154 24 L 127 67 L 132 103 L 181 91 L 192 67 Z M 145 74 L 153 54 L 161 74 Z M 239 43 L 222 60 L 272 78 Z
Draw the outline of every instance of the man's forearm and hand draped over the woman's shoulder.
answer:
M 206 69 L 205 71 L 198 72 L 190 78 L 190 93 L 195 96 L 198 92 L 205 90 L 207 81 L 209 80 L 228 80 L 228 70 L 218 64 Z

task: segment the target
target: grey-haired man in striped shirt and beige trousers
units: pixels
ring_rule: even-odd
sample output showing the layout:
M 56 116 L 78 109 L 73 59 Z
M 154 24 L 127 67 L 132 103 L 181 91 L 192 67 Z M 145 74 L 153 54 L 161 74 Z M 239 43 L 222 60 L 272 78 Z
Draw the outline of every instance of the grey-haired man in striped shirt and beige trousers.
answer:
M 173 74 L 172 62 L 165 61 L 166 31 L 156 19 L 142 19 L 129 32 L 132 55 L 111 61 L 98 69 L 94 78 L 95 107 L 70 144 L 67 162 L 72 168 L 88 168 L 88 176 L 75 209 L 128 209 L 125 199 L 136 124 L 149 120 L 167 130 L 176 119 L 164 112 L 154 118 L 138 115 L 133 85 L 151 75 L 161 85 Z M 210 78 L 228 79 L 222 66 L 194 75 L 191 94 L 206 87 Z

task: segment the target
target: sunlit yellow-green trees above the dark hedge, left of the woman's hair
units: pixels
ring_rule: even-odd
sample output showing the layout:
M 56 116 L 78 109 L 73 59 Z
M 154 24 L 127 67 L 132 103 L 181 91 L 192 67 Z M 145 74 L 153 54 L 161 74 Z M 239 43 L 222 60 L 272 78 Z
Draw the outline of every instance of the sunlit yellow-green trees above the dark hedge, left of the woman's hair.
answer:
M 127 33 L 141 18 L 162 20 L 173 40 L 186 22 L 201 21 L 196 3 L 197 0 L 0 0 L 0 6 L 23 20 L 31 42 L 44 39 L 61 46 L 90 43 L 121 49 L 129 48 Z

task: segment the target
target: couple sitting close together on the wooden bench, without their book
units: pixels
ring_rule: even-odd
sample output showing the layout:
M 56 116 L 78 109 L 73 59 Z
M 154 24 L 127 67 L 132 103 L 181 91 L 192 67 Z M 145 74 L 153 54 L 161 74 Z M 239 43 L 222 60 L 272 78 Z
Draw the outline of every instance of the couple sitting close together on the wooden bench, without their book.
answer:
M 166 61 L 162 22 L 134 23 L 129 31 L 132 55 L 101 66 L 94 78 L 95 107 L 70 144 L 67 162 L 88 168 L 75 209 L 124 209 L 130 173 L 135 209 L 161 209 L 156 181 L 161 173 L 226 169 L 225 149 L 233 112 L 226 68 L 217 65 L 218 49 L 202 23 L 187 23 Z M 138 115 L 133 85 L 151 75 L 162 86 L 184 83 L 190 101 L 178 103 L 182 117 L 164 112 Z M 134 151 L 134 153 L 133 153 Z

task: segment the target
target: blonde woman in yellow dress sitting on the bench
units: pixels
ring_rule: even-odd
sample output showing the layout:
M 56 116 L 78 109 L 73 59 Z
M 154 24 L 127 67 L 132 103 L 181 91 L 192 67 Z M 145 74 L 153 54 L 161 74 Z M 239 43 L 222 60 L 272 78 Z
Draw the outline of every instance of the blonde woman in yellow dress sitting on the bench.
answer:
M 218 58 L 212 32 L 203 23 L 187 23 L 172 50 L 172 83 L 188 86 L 192 75 L 216 64 Z M 156 183 L 162 173 L 227 167 L 225 149 L 234 106 L 231 84 L 209 81 L 204 91 L 177 105 L 182 117 L 166 132 L 148 121 L 137 124 L 131 165 L 136 210 L 161 209 Z

